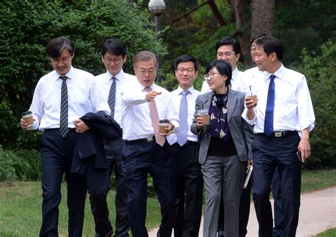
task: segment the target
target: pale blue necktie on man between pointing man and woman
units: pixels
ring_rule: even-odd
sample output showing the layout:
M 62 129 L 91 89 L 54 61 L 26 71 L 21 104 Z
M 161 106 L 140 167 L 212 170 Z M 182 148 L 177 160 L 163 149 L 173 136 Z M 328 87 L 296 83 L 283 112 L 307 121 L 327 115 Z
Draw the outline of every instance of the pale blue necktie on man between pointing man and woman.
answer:
M 184 145 L 186 143 L 188 133 L 188 102 L 186 101 L 186 95 L 189 91 L 181 92 L 181 104 L 179 106 L 179 132 L 177 133 L 177 143 Z

